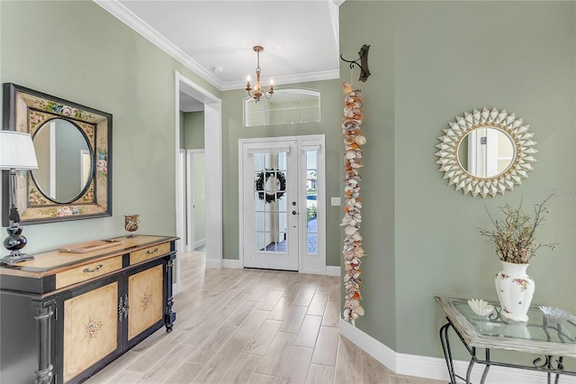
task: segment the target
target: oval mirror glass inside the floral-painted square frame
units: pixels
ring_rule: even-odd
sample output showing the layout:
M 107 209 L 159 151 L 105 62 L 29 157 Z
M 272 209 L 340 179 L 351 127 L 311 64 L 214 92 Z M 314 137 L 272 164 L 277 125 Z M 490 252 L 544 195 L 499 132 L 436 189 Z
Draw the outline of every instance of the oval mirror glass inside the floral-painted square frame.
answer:
M 90 148 L 76 124 L 65 119 L 43 123 L 33 137 L 38 169 L 36 186 L 56 203 L 74 201 L 84 191 L 94 168 Z

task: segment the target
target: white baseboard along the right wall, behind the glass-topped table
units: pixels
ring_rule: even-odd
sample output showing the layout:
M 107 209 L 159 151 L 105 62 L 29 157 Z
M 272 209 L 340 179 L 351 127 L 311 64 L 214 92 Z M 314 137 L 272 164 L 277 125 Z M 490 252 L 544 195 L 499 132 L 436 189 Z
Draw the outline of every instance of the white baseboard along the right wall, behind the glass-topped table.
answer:
M 397 353 L 343 319 L 340 319 L 338 326 L 341 335 L 395 373 L 427 379 L 449 380 L 448 369 L 444 359 Z M 440 343 L 439 339 L 438 343 Z M 468 361 L 454 361 L 454 364 L 455 372 L 465 377 Z M 484 365 L 474 365 L 471 381 L 480 382 L 483 370 Z M 547 379 L 544 372 L 494 366 L 491 367 L 486 377 L 486 384 L 545 384 L 546 382 Z M 576 384 L 576 377 L 561 376 L 559 384 Z

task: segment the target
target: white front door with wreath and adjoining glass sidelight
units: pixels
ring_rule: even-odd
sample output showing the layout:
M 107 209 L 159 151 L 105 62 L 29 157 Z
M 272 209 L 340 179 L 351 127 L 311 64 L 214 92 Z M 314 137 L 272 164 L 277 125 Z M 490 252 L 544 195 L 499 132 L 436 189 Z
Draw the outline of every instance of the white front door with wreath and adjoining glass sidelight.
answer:
M 239 142 L 246 268 L 325 273 L 323 136 Z

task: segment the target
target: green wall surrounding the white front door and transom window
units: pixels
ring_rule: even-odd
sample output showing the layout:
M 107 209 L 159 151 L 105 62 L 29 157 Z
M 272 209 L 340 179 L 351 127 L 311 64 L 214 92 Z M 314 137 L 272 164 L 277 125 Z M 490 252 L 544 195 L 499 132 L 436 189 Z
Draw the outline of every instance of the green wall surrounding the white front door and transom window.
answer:
M 320 123 L 279 124 L 245 127 L 242 108 L 245 90 L 227 91 L 222 96 L 222 168 L 223 168 L 223 254 L 225 259 L 238 260 L 238 139 L 253 137 L 326 135 L 326 263 L 340 265 L 339 241 L 342 206 L 330 206 L 330 197 L 339 197 L 344 170 L 342 159 L 343 94 L 339 80 L 291 84 L 290 88 L 320 91 L 322 121 Z M 283 88 L 279 84 L 275 89 Z

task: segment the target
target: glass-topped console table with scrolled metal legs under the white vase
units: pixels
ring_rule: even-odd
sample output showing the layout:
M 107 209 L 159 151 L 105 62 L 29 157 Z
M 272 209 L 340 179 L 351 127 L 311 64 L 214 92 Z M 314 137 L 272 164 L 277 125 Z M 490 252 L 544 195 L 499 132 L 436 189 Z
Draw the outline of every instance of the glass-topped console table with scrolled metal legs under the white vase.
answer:
M 551 323 L 537 306 L 531 306 L 528 311 L 527 323 L 505 323 L 500 319 L 500 304 L 490 303 L 495 311 L 488 316 L 474 314 L 468 306 L 467 299 L 455 297 L 435 297 L 437 303 L 446 314 L 447 324 L 440 328 L 440 341 L 446 359 L 450 382 L 455 384 L 456 378 L 470 384 L 474 363 L 484 364 L 481 383 L 484 382 L 490 367 L 510 367 L 522 370 L 546 372 L 548 383 L 559 375 L 576 376 L 576 371 L 565 370 L 563 359 L 576 358 L 576 317 L 562 324 Z M 448 330 L 453 328 L 464 347 L 471 355 L 466 371 L 466 377 L 455 373 L 452 350 L 448 340 Z M 484 350 L 484 358 L 479 357 L 476 349 Z M 536 353 L 542 355 L 532 362 L 532 365 L 522 365 L 504 361 L 491 361 L 491 349 L 515 352 Z

